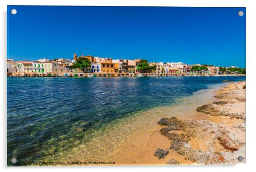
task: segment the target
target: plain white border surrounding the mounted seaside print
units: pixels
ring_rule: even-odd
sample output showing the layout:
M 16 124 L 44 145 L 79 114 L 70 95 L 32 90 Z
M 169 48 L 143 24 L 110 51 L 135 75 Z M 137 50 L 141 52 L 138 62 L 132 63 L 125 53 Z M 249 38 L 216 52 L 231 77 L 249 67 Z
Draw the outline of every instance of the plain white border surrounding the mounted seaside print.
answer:
M 179 171 L 197 171 L 209 172 L 218 171 L 245 171 L 254 169 L 253 164 L 256 164 L 255 158 L 255 122 L 256 113 L 253 110 L 255 107 L 255 76 L 253 72 L 256 69 L 256 8 L 253 0 L 1 0 L 1 110 L 2 110 L 2 125 L 1 135 L 2 141 L 0 156 L 1 167 L 4 171 L 19 170 L 25 171 L 66 171 L 66 170 L 104 170 L 104 171 L 119 171 L 119 170 L 135 170 L 140 171 L 146 169 L 149 172 L 158 170 L 179 170 Z M 239 165 L 215 165 L 215 166 L 87 166 L 87 167 L 32 167 L 32 168 L 7 168 L 6 167 L 6 5 L 61 5 L 61 6 L 191 6 L 191 7 L 246 7 L 246 164 Z M 254 89 L 253 89 L 254 88 Z

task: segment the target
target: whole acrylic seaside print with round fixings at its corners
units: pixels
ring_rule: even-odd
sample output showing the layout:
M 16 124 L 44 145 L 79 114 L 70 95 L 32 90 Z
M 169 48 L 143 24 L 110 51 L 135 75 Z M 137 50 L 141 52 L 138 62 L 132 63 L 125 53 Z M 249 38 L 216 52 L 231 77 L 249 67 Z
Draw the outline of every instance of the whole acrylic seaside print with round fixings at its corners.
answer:
M 245 8 L 7 14 L 8 166 L 245 163 Z

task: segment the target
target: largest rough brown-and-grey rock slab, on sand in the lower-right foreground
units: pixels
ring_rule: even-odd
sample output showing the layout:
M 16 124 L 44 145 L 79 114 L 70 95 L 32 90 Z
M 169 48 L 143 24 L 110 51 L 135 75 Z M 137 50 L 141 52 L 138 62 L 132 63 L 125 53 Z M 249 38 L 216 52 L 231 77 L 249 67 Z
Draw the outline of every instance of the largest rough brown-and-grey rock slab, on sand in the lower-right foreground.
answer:
M 160 132 L 171 140 L 171 150 L 199 164 L 225 163 L 221 150 L 216 144 L 226 152 L 236 151 L 244 144 L 229 128 L 207 120 L 179 120 L 171 117 L 162 118 L 158 124 L 167 126 Z M 177 134 L 173 132 L 175 130 L 182 130 L 183 133 Z M 207 150 L 191 148 L 189 141 L 194 138 L 206 145 Z

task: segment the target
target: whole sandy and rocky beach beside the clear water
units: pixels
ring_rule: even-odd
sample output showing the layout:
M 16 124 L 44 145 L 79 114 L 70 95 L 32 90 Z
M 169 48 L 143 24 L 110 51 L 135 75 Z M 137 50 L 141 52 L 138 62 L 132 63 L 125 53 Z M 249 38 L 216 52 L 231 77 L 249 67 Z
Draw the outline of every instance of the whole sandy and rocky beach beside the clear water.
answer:
M 215 91 L 214 102 L 162 118 L 111 159 L 117 165 L 236 164 L 245 158 L 245 82 Z M 244 88 L 243 88 L 244 87 Z

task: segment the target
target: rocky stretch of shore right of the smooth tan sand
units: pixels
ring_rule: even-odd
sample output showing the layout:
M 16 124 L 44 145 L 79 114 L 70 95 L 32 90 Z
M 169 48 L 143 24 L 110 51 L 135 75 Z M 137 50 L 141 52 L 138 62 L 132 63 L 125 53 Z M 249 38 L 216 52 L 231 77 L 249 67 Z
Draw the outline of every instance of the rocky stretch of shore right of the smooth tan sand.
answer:
M 171 158 L 166 164 L 245 163 L 238 160 L 245 158 L 245 82 L 226 85 L 216 93 L 219 101 L 196 109 L 208 119 L 160 119 L 160 133 L 170 140 L 170 147 L 157 149 L 155 156 L 161 159 L 175 151 L 184 157 L 182 162 Z

